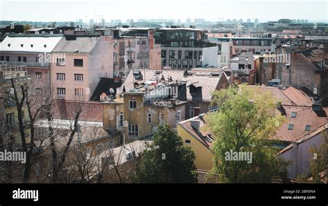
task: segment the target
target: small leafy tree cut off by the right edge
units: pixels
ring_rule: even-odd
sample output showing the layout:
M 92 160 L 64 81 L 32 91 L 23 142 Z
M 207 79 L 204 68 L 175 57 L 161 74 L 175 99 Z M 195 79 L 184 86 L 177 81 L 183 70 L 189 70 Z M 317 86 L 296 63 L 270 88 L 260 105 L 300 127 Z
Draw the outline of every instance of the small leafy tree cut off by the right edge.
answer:
M 310 173 L 313 182 L 328 182 L 328 132 L 322 133 L 323 144 L 319 149 L 311 147 L 313 158 L 310 161 Z

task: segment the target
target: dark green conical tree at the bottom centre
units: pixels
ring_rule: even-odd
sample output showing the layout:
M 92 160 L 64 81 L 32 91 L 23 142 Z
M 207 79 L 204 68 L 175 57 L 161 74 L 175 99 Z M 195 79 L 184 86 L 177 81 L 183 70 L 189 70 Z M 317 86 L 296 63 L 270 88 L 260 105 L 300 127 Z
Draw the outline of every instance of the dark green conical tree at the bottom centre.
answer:
M 183 147 L 183 141 L 170 126 L 159 126 L 153 142 L 148 144 L 136 168 L 135 182 L 197 182 L 194 152 Z

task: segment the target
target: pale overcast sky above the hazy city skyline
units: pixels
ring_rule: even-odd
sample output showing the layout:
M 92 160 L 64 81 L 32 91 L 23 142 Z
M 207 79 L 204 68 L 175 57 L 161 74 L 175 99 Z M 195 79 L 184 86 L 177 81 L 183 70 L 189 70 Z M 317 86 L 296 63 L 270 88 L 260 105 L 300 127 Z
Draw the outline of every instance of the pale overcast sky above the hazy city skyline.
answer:
M 0 20 L 10 21 L 78 21 L 103 15 L 111 19 L 195 19 L 217 21 L 218 18 L 263 21 L 308 19 L 328 21 L 328 1 L 242 1 L 242 0 L 0 0 Z

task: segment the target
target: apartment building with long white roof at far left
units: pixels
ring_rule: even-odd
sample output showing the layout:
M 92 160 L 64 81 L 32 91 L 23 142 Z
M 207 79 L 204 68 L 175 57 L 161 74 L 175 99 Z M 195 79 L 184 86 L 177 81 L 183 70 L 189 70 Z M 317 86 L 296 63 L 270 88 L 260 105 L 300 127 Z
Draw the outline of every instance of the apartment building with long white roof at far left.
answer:
M 35 92 L 50 86 L 51 52 L 62 35 L 8 35 L 0 44 L 0 61 L 8 66 L 26 66 L 28 77 L 33 79 Z

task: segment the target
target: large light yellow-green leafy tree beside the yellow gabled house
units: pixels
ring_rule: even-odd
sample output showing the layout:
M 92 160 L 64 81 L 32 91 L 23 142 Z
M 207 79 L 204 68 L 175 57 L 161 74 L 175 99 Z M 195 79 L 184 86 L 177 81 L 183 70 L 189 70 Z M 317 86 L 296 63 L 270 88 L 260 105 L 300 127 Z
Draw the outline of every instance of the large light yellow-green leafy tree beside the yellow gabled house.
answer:
M 219 110 L 206 115 L 203 129 L 216 138 L 212 148 L 213 170 L 219 174 L 219 180 L 271 182 L 275 176 L 286 178 L 287 163 L 275 156 L 277 149 L 272 147 L 274 141 L 269 140 L 284 121 L 274 97 L 258 86 L 242 84 L 216 91 L 212 104 Z M 230 158 L 232 153 L 244 154 L 244 160 Z

